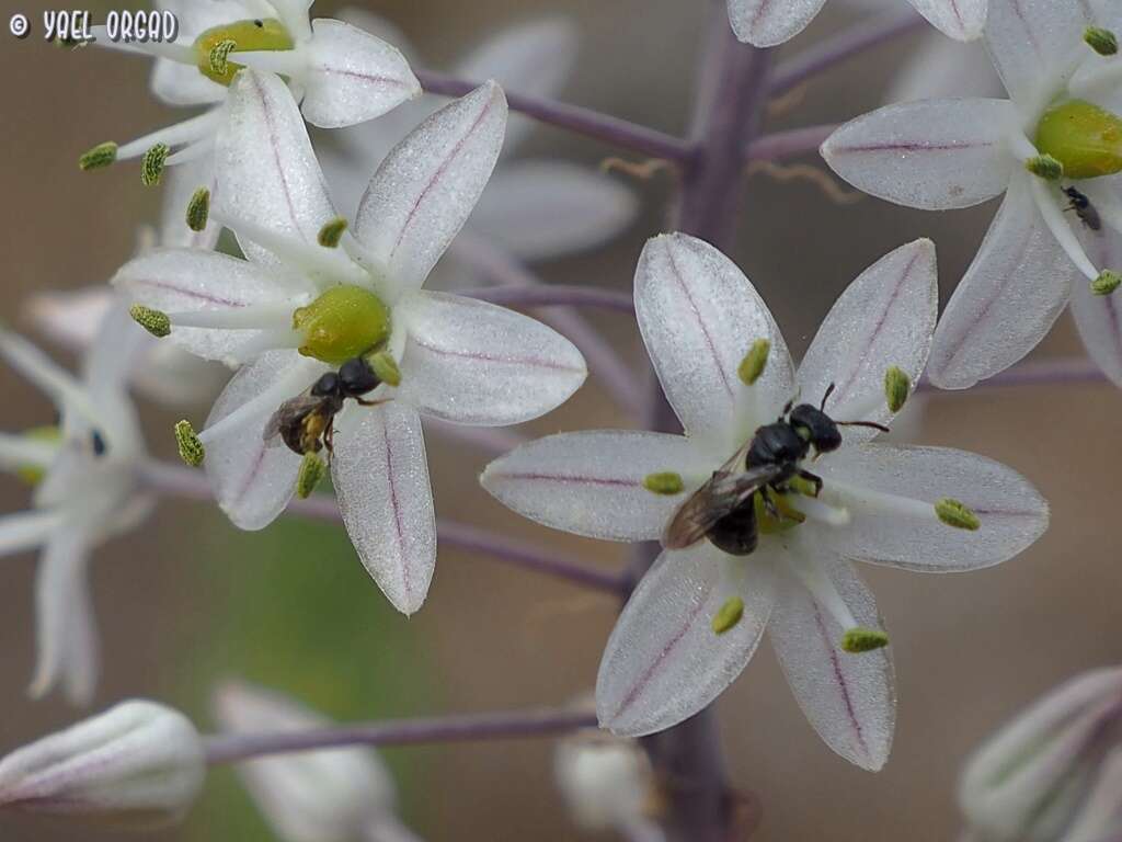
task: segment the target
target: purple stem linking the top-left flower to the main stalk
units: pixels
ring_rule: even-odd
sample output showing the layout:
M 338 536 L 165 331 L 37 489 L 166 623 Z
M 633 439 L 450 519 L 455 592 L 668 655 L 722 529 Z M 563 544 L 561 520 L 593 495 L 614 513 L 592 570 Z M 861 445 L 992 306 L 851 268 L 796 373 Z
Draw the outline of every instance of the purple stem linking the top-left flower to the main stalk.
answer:
M 419 71 L 416 75 L 429 93 L 445 97 L 462 97 L 479 85 L 478 82 L 456 79 L 432 71 Z M 506 100 L 513 111 L 624 149 L 675 163 L 684 163 L 693 155 L 693 148 L 673 135 L 622 120 L 618 117 L 610 117 L 592 109 L 512 92 L 507 92 Z

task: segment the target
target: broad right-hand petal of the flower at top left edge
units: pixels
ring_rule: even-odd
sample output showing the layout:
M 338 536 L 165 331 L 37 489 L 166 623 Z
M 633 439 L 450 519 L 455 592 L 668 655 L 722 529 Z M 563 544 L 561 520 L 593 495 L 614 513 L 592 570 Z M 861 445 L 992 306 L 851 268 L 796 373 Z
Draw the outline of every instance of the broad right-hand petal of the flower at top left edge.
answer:
M 313 126 L 353 126 L 421 94 L 397 47 L 341 20 L 313 20 L 312 31 L 301 110 Z

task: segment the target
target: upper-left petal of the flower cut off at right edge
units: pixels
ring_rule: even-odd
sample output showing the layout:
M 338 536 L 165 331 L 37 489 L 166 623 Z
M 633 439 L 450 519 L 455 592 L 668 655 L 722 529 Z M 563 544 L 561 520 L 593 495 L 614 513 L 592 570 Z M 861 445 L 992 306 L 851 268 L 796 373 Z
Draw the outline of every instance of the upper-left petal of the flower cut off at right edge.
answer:
M 1046 104 L 1078 60 L 1089 55 L 1087 0 L 990 0 L 985 43 L 1005 90 L 1027 112 Z

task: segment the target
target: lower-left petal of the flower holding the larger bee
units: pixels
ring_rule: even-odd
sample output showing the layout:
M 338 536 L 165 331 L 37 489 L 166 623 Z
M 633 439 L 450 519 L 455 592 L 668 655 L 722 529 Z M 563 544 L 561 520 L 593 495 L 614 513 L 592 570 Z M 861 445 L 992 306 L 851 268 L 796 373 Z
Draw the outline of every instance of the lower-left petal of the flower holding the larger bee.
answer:
M 712 619 L 733 597 L 744 615 L 724 634 Z M 641 736 L 677 725 L 719 696 L 756 650 L 774 601 L 770 567 L 705 542 L 663 552 L 608 638 L 596 679 L 600 726 Z

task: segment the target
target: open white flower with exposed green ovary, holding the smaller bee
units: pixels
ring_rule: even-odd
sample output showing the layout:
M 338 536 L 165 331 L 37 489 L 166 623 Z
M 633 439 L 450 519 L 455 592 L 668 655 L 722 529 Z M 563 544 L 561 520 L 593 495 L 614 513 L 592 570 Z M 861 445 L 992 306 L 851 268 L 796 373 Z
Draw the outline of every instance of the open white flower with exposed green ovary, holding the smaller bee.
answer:
M 331 468 L 362 562 L 394 605 L 412 613 L 427 593 L 436 549 L 417 413 L 519 423 L 564 402 L 587 372 L 567 339 L 528 317 L 421 290 L 487 183 L 506 99 L 487 83 L 417 127 L 375 173 L 355 236 L 341 234 L 284 83 L 246 71 L 228 107 L 218 205 L 249 259 L 155 251 L 127 264 L 114 283 L 168 311 L 172 340 L 247 364 L 199 437 L 215 496 L 242 529 L 272 522 L 301 475 L 296 454 L 264 440 L 279 404 L 350 358 L 376 351 L 396 364 L 399 385 L 383 377 L 366 395 L 384 403 L 349 402 L 339 413 Z

